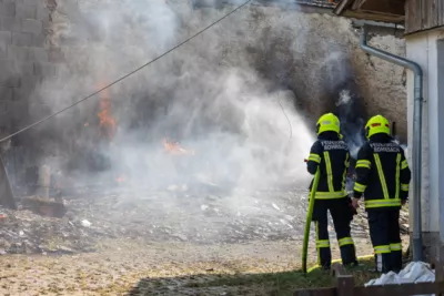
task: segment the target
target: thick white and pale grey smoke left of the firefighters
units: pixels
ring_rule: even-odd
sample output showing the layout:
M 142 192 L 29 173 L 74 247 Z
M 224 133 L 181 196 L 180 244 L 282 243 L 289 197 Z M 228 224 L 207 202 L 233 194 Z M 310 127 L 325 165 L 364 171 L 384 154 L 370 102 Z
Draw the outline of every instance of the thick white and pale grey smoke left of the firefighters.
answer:
M 52 93 L 43 99 L 52 111 L 159 57 L 233 9 L 193 11 L 183 1 L 83 0 L 74 12 L 68 2 L 59 1 L 58 10 L 74 21 L 60 27 L 64 31 L 59 35 L 74 40 L 64 48 L 71 72 L 58 83 L 43 84 L 42 90 Z M 100 146 L 94 139 L 79 136 L 77 149 L 105 155 L 111 169 L 104 175 L 123 175 L 129 186 L 196 181 L 246 190 L 294 182 L 305 186 L 309 176 L 303 160 L 313 137 L 294 108 L 294 95 L 270 91 L 270 82 L 250 64 L 245 48 L 259 37 L 249 37 L 242 24 L 251 18 L 251 11 L 240 11 L 112 86 L 109 95 L 117 134 Z M 95 103 L 81 105 L 90 120 L 98 112 L 99 100 L 92 100 Z M 64 124 L 71 120 L 67 115 Z M 164 137 L 179 141 L 194 155 L 165 153 Z M 73 182 L 100 176 L 67 174 L 74 176 Z

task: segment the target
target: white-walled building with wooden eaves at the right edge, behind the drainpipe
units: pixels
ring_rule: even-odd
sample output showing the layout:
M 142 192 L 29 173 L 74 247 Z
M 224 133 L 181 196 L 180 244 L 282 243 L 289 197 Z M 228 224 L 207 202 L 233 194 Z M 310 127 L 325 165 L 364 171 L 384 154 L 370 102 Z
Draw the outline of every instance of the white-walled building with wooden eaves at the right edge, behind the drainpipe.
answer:
M 408 153 L 414 174 L 421 173 L 421 185 L 411 184 L 411 225 L 417 217 L 415 210 L 421 204 L 421 234 L 427 258 L 436 262 L 443 256 L 444 246 L 444 1 L 424 0 L 343 0 L 335 8 L 339 16 L 366 21 L 379 21 L 404 28 L 406 58 L 423 72 L 422 90 L 422 161 L 413 162 L 414 151 Z M 407 126 L 408 146 L 421 133 L 414 132 L 415 74 L 407 72 Z M 417 86 L 417 84 L 416 84 Z M 418 173 L 420 172 L 420 173 Z M 416 191 L 416 186 L 421 186 Z M 415 203 L 412 201 L 420 201 Z M 412 227 L 411 227 L 412 228 Z M 441 254 L 441 255 L 440 255 Z

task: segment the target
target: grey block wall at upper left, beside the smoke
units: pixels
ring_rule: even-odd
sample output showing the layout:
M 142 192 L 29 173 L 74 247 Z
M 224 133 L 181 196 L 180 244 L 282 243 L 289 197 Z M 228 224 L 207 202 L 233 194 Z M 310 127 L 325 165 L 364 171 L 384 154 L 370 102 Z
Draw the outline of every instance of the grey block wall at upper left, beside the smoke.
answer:
M 0 0 L 0 134 L 29 123 L 34 90 L 54 75 L 60 51 L 48 44 L 44 0 Z

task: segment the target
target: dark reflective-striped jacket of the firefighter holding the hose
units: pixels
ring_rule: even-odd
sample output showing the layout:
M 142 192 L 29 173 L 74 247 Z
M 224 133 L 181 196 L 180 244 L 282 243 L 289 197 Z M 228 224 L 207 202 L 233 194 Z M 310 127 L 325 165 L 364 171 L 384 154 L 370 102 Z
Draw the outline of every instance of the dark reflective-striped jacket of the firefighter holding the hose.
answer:
M 345 178 L 350 152 L 344 141 L 335 132 L 323 132 L 310 150 L 307 171 L 312 175 L 320 169 L 316 200 L 333 200 L 347 196 Z M 312 188 L 313 181 L 310 184 Z

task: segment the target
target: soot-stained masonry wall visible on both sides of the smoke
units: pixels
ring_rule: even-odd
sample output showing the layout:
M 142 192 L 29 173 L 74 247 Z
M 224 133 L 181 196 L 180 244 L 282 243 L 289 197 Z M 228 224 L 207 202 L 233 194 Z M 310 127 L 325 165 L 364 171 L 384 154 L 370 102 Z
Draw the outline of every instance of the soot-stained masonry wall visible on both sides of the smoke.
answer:
M 68 3 L 73 1 L 65 0 L 64 4 Z M 57 9 L 53 0 L 0 0 L 1 134 L 48 114 L 48 109 L 34 96 L 44 93 L 40 88 L 42 81 L 57 75 L 63 61 L 58 44 L 51 40 L 60 29 L 60 23 L 51 18 Z M 339 85 L 353 84 L 366 113 L 382 113 L 396 122 L 398 136 L 406 141 L 405 71 L 362 52 L 349 20 L 279 8 L 251 7 L 248 10 L 252 17 L 245 18 L 242 28 L 251 43 L 246 49 L 251 51 L 251 63 L 266 79 L 279 80 L 291 89 L 300 109 L 316 118 L 334 106 L 325 100 L 336 99 Z M 192 17 L 202 18 L 199 12 Z M 75 29 L 82 23 L 74 21 L 72 27 Z M 286 29 L 273 29 L 279 27 Z M 235 57 L 236 51 L 245 50 L 244 43 L 238 47 L 236 38 L 239 35 L 226 33 L 229 48 L 224 54 Z M 325 40 L 330 41 L 321 42 Z M 376 37 L 371 43 L 404 55 L 403 40 Z M 88 52 L 88 49 L 82 50 Z M 347 57 L 344 62 L 343 57 L 332 54 L 337 51 Z M 344 63 L 351 70 L 345 74 L 341 73 Z

